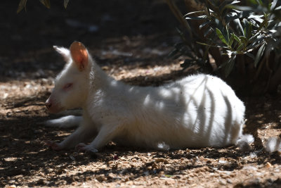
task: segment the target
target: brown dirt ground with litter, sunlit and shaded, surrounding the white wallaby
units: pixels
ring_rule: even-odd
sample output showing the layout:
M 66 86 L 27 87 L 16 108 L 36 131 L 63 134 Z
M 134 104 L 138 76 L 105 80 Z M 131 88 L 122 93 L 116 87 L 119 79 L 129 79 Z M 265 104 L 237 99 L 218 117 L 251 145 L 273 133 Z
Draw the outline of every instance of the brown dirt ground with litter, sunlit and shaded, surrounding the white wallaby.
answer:
M 57 118 L 44 106 L 63 61 L 53 45 L 83 42 L 105 72 L 128 84 L 176 80 L 181 59 L 167 58 L 179 40 L 178 25 L 163 1 L 18 1 L 0 6 L 0 187 L 281 187 L 281 153 L 263 143 L 281 134 L 281 92 L 242 96 L 251 151 L 224 149 L 155 151 L 110 143 L 96 154 L 52 151 L 72 129 L 44 127 Z

